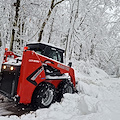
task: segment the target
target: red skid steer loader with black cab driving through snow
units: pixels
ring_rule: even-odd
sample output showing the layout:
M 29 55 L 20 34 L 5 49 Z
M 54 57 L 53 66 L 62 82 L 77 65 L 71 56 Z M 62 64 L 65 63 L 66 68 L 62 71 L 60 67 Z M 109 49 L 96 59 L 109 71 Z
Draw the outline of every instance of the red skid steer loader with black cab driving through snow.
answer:
M 63 49 L 45 43 L 27 44 L 22 58 L 5 49 L 0 93 L 37 108 L 60 101 L 64 93 L 74 93 L 74 70 L 72 63 L 63 64 L 63 53 Z

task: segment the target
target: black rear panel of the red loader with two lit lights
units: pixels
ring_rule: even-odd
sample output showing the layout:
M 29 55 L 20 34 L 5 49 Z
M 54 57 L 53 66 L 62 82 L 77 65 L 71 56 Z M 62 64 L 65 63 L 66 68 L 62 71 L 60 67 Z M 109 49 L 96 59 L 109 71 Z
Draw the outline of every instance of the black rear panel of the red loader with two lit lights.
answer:
M 12 98 L 17 94 L 20 66 L 5 64 L 3 66 L 0 80 L 0 93 L 8 98 Z

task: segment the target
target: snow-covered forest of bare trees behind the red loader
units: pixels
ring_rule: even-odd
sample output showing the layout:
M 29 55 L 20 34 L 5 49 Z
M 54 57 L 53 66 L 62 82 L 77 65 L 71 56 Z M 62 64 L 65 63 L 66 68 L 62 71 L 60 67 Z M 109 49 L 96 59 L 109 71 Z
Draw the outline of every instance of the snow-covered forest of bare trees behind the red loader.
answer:
M 0 0 L 0 59 L 29 42 L 65 50 L 66 61 L 89 62 L 120 76 L 119 0 Z M 74 63 L 73 63 L 74 64 Z

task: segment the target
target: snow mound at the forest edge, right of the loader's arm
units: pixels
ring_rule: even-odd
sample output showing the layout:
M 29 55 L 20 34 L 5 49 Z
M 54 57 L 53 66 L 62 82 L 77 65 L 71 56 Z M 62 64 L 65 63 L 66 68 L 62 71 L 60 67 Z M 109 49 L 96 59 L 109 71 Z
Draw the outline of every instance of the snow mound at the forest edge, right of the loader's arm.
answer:
M 92 79 L 92 80 L 101 80 L 104 78 L 109 78 L 109 75 L 89 63 L 89 61 L 76 61 L 74 60 L 74 69 L 76 71 L 77 78 L 85 78 L 85 79 Z

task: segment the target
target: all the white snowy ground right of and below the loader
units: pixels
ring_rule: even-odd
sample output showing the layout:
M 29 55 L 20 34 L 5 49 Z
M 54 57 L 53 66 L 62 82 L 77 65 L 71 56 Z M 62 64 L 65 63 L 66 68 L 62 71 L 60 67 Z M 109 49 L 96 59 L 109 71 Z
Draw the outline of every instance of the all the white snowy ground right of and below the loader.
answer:
M 0 116 L 0 120 L 120 120 L 120 79 L 79 62 L 74 65 L 77 94 L 65 94 L 61 103 L 31 111 L 20 117 Z

